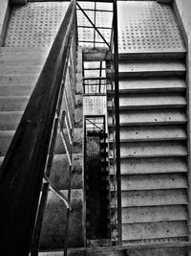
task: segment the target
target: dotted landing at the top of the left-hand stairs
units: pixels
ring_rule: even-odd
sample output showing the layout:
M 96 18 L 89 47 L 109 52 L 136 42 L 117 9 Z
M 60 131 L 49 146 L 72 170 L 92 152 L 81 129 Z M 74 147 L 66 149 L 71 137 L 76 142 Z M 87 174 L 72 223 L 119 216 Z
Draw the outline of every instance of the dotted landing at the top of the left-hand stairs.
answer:
M 69 2 L 37 2 L 14 7 L 5 46 L 51 46 Z

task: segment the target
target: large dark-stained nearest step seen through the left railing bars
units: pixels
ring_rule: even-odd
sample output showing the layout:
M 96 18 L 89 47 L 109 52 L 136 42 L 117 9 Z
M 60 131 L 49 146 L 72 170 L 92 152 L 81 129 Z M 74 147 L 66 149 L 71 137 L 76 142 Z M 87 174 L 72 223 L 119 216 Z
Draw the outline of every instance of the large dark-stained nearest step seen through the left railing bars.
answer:
M 61 191 L 66 194 L 66 191 Z M 69 221 L 69 247 L 83 246 L 82 190 L 72 190 L 72 211 Z M 53 192 L 49 193 L 43 220 L 41 248 L 63 248 L 65 241 L 66 207 Z

